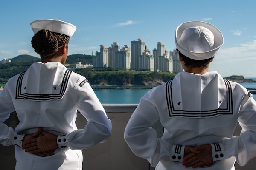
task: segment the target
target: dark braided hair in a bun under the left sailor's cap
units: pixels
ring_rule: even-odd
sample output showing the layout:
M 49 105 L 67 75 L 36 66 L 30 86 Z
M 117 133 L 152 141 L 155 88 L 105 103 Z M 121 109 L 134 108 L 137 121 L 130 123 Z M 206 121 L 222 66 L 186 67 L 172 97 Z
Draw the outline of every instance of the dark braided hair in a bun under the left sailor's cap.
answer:
M 40 57 L 53 58 L 61 55 L 60 49 L 68 44 L 69 39 L 67 35 L 42 29 L 32 37 L 31 44 Z

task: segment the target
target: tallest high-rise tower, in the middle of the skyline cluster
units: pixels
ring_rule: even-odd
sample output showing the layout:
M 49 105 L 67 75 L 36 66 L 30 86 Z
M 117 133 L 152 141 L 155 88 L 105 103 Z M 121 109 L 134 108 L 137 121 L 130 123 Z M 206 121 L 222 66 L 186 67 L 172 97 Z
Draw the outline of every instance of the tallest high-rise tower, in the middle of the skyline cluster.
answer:
M 138 41 L 131 41 L 131 70 L 139 70 L 139 59 L 146 50 L 145 41 L 139 38 Z

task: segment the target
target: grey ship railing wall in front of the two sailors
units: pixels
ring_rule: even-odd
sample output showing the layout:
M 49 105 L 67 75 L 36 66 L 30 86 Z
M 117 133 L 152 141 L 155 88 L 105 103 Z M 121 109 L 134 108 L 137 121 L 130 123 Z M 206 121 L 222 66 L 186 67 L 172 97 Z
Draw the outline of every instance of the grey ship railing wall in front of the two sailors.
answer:
M 105 143 L 84 149 L 83 169 L 84 170 L 154 170 L 148 161 L 139 158 L 132 153 L 124 140 L 124 130 L 131 114 L 137 104 L 103 104 L 105 111 L 112 122 L 112 135 Z M 78 128 L 83 128 L 86 119 L 78 112 L 76 124 Z M 11 127 L 19 123 L 16 113 L 12 113 L 5 122 Z M 163 128 L 159 122 L 153 126 L 160 137 Z M 239 135 L 241 127 L 237 126 L 234 135 Z M 0 145 L 1 169 L 14 170 L 15 168 L 15 148 L 14 146 L 4 147 Z M 46 162 L 47 163 L 47 162 Z M 252 159 L 244 167 L 235 165 L 236 170 L 253 170 L 256 167 L 256 159 Z

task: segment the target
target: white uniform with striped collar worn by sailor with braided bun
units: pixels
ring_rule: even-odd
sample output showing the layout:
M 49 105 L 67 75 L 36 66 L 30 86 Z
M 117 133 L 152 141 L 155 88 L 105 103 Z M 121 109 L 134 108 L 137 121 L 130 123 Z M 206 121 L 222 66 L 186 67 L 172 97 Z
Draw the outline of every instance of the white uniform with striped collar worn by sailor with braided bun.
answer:
M 78 110 L 88 121 L 79 130 Z M 0 143 L 17 145 L 17 170 L 81 170 L 81 149 L 105 142 L 111 135 L 111 121 L 87 79 L 60 62 L 35 62 L 9 79 L 0 93 L 0 116 L 14 111 L 20 122 L 15 130 L 0 123 Z M 22 150 L 23 136 L 38 127 L 58 136 L 54 155 L 41 157 Z

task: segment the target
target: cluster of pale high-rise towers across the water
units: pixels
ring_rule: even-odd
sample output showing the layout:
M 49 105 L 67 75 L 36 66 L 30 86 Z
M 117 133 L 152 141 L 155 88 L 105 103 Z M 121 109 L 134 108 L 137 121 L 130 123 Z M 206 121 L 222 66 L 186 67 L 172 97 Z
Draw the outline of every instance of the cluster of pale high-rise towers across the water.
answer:
M 153 55 L 142 38 L 131 41 L 131 47 L 124 45 L 121 49 L 118 42 L 111 47 L 100 45 L 100 51 L 93 56 L 93 68 L 118 68 L 136 71 L 166 71 L 178 73 L 183 71 L 178 59 L 178 52 L 168 51 L 162 42 L 157 42 Z

